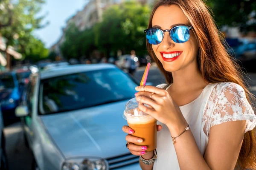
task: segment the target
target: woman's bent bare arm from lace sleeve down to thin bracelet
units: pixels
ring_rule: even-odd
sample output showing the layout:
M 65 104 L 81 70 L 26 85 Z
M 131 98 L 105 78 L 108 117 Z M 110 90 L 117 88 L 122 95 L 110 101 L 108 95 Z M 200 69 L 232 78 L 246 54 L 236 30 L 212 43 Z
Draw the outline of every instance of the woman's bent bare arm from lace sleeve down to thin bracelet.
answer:
M 245 121 L 226 122 L 211 127 L 204 157 L 192 132 L 187 130 L 175 139 L 180 170 L 233 170 L 243 142 L 244 130 Z

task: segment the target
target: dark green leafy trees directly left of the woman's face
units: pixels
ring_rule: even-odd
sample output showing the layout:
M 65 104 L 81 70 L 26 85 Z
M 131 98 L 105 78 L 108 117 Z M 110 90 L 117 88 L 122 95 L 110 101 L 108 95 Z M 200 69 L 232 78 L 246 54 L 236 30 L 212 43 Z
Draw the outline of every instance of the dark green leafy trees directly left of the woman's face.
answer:
M 113 5 L 103 12 L 102 21 L 93 28 L 79 31 L 71 24 L 65 34 L 61 52 L 66 58 L 89 56 L 93 49 L 107 56 L 122 50 L 129 53 L 147 54 L 144 29 L 148 26 L 149 7 L 140 3 L 126 2 Z

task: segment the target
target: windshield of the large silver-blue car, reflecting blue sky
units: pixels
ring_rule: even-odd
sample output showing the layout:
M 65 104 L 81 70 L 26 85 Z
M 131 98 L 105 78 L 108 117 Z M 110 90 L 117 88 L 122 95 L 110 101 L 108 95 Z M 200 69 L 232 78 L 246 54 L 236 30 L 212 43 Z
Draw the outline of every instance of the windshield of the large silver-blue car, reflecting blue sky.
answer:
M 137 82 L 119 69 L 104 69 L 41 81 L 39 114 L 59 113 L 134 97 Z

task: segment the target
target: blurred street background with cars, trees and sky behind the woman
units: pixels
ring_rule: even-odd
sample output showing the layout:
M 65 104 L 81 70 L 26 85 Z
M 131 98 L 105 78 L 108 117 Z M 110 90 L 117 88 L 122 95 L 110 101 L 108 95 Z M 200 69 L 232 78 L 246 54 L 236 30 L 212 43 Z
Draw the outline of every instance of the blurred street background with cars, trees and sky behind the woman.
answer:
M 152 4 L 0 0 L 0 170 L 140 169 L 122 111 L 148 62 L 148 85 L 165 83 L 145 45 Z M 256 94 L 256 1 L 207 5 Z

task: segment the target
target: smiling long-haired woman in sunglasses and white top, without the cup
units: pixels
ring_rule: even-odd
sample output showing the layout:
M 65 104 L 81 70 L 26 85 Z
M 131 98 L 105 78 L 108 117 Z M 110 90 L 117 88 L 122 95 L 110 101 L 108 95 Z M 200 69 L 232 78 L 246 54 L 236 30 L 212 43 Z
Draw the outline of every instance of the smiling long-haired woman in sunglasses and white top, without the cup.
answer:
M 133 144 L 140 138 L 123 127 L 142 169 L 256 169 L 253 97 L 207 6 L 201 0 L 159 0 L 145 33 L 168 84 L 138 86 L 135 94 L 152 107 L 140 104 L 140 110 L 158 120 L 157 152 Z

